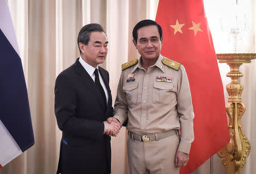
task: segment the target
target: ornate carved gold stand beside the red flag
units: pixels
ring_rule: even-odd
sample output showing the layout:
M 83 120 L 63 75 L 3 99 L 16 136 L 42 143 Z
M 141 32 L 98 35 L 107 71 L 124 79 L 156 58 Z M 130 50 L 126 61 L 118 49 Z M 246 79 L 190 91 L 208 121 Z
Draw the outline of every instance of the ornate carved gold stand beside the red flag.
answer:
M 243 85 L 238 81 L 238 78 L 243 77 L 239 67 L 243 63 L 250 63 L 255 58 L 256 54 L 250 53 L 217 54 L 220 63 L 227 63 L 230 66 L 230 72 L 226 76 L 232 79 L 232 82 L 226 86 L 229 94 L 226 113 L 229 116 L 230 141 L 226 147 L 218 152 L 228 174 L 241 174 L 245 165 L 245 158 L 250 154 L 250 142 L 243 133 L 240 122 L 242 114 L 245 112 L 245 104 L 241 100 Z

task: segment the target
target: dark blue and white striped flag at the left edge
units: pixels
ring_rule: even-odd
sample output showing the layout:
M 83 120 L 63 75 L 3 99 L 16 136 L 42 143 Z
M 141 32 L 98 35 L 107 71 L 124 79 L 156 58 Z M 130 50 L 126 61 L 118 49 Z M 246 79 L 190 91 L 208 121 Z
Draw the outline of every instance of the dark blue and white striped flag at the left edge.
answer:
M 22 62 L 7 0 L 0 0 L 0 168 L 32 145 Z

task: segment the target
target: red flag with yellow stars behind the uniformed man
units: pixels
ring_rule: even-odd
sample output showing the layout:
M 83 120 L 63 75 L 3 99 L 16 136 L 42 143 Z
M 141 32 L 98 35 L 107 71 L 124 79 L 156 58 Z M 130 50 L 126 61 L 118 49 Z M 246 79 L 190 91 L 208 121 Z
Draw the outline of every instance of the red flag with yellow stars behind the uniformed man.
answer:
M 191 173 L 229 142 L 224 92 L 203 0 L 159 0 L 156 22 L 163 28 L 162 55 L 183 64 L 188 74 L 195 141 L 180 173 Z

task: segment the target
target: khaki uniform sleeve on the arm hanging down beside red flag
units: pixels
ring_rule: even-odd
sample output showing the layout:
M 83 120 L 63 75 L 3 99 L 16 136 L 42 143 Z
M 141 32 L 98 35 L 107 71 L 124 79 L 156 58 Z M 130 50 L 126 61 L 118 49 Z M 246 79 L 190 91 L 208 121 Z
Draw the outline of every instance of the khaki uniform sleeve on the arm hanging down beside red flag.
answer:
M 191 99 L 191 92 L 188 83 L 187 73 L 184 66 L 180 66 L 181 75 L 177 84 L 177 112 L 179 113 L 180 120 L 180 144 L 178 151 L 189 154 L 191 143 L 194 141 L 193 131 L 193 105 Z

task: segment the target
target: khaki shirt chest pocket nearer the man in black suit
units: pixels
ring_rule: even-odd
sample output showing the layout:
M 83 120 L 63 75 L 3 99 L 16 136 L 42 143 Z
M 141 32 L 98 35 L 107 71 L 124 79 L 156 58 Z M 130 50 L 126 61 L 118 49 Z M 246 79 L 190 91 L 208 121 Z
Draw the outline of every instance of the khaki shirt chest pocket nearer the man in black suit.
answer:
M 138 83 L 126 84 L 123 86 L 123 92 L 125 92 L 128 104 L 137 104 L 138 99 Z

